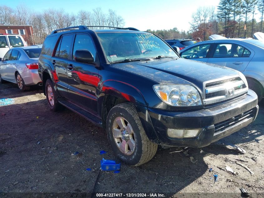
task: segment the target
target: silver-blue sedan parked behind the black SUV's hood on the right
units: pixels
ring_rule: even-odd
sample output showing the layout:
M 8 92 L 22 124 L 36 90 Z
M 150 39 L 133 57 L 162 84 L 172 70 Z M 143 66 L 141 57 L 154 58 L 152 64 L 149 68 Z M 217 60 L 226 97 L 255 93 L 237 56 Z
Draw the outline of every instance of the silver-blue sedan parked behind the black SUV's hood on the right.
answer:
M 264 42 L 255 39 L 217 39 L 195 43 L 181 50 L 182 58 L 213 63 L 243 73 L 250 89 L 264 96 Z

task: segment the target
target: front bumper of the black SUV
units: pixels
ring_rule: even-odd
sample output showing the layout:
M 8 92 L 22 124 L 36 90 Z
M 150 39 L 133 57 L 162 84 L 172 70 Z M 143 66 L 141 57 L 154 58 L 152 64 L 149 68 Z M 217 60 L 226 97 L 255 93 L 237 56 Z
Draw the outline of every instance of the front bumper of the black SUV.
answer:
M 148 138 L 157 144 L 204 147 L 252 123 L 258 113 L 257 95 L 247 95 L 209 109 L 167 111 L 137 106 Z M 201 129 L 195 138 L 171 138 L 167 129 Z

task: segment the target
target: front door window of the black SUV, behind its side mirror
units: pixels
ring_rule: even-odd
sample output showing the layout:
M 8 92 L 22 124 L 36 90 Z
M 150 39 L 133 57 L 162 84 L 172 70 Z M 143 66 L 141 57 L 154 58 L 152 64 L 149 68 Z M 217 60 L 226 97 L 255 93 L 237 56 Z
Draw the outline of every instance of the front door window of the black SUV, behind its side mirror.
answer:
M 96 56 L 96 50 L 92 42 L 92 38 L 88 35 L 84 34 L 77 34 L 75 37 L 74 41 L 74 46 L 73 46 L 73 53 L 72 53 L 72 59 L 74 60 L 74 54 L 76 50 L 78 49 L 87 49 L 92 53 L 92 56 L 95 60 Z

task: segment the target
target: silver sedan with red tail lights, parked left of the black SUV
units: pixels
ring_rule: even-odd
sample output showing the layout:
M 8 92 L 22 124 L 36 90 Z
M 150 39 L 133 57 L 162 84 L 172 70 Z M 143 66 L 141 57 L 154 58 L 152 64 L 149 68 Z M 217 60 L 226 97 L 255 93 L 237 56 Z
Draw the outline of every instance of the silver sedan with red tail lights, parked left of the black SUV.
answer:
M 0 83 L 3 80 L 16 83 L 22 91 L 30 85 L 42 85 L 37 73 L 40 46 L 12 48 L 0 58 Z

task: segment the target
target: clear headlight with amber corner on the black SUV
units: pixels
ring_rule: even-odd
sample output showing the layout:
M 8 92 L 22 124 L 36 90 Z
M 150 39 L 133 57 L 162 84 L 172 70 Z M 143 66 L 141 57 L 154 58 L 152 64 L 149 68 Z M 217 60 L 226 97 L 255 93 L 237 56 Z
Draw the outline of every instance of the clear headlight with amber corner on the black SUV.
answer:
M 163 102 L 171 106 L 202 105 L 200 94 L 192 85 L 154 85 L 153 89 Z

